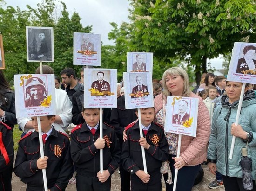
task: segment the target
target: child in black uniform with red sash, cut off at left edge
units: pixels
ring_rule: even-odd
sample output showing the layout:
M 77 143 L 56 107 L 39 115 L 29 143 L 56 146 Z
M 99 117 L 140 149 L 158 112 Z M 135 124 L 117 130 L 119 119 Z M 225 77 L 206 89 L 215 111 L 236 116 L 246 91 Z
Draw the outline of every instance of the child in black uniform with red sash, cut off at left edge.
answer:
M 0 121 L 0 191 L 12 190 L 13 156 L 12 128 Z

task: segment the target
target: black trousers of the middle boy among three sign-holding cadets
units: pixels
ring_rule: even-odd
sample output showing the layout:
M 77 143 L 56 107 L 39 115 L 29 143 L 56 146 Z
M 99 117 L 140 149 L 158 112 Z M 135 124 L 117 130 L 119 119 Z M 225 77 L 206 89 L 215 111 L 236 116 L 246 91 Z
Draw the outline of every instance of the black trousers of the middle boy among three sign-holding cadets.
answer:
M 75 180 L 77 191 L 110 191 L 111 188 L 111 176 L 101 183 L 98 177 L 89 178 L 77 173 Z

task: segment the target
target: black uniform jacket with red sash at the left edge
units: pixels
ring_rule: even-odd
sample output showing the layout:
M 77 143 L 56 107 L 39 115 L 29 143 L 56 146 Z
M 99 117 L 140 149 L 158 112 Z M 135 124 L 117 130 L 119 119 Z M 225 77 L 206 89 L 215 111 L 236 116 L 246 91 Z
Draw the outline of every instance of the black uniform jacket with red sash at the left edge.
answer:
M 0 122 L 0 178 L 2 173 L 13 165 L 13 134 L 11 127 Z

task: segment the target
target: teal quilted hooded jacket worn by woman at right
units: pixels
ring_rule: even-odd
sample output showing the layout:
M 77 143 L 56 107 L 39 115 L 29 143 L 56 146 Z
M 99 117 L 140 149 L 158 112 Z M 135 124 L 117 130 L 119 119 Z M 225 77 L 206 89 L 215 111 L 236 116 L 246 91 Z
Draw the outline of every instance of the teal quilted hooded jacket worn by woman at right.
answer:
M 238 101 L 230 104 L 227 96 L 222 96 L 221 105 L 214 111 L 211 125 L 207 159 L 216 160 L 217 171 L 229 177 L 242 177 L 241 148 L 246 144 L 236 137 L 233 158 L 229 159 L 232 134 L 231 124 L 236 121 Z M 254 91 L 247 91 L 243 97 L 242 108 L 238 124 L 244 131 L 252 132 L 253 139 L 248 144 L 248 157 L 252 159 L 252 177 L 256 179 L 256 95 Z

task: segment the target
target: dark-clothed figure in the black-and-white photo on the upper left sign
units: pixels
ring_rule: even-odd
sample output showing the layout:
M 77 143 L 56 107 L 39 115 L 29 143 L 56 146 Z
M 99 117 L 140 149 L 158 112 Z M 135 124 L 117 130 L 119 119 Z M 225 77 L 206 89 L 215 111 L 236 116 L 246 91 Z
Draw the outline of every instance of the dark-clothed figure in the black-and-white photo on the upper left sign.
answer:
M 32 60 L 51 60 L 51 45 L 44 31 L 40 31 L 37 38 L 34 36 L 29 56 Z

